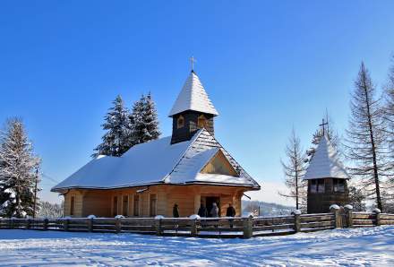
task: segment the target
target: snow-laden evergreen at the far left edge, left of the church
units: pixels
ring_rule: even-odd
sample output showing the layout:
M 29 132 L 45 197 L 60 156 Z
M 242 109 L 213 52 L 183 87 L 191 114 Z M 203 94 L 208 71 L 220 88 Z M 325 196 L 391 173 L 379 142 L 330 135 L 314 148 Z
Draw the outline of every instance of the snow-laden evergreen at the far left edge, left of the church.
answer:
M 8 217 L 32 216 L 40 161 L 20 119 L 9 120 L 1 134 L 0 161 L 0 212 Z

